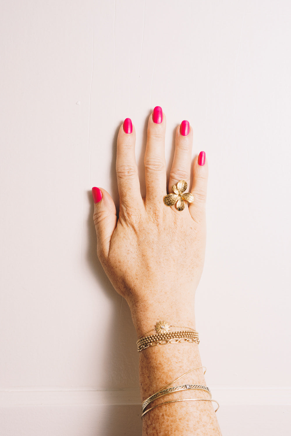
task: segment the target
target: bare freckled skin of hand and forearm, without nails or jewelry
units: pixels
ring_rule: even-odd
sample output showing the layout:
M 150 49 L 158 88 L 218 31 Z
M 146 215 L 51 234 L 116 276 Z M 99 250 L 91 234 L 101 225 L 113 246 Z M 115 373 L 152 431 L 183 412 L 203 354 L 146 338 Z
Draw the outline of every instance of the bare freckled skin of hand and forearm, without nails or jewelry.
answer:
M 185 191 L 191 192 L 194 200 L 185 201 L 181 211 L 175 205 L 165 205 L 166 119 L 161 111 L 158 120 L 155 123 L 151 114 L 148 122 L 144 157 L 146 198 L 140 195 L 134 125 L 131 133 L 131 129 L 124 131 L 121 126 L 116 153 L 119 216 L 113 199 L 102 188 L 102 199 L 94 206 L 98 258 L 116 291 L 127 300 L 137 337 L 154 329 L 158 321 L 195 329 L 195 291 L 205 256 L 207 160 L 204 158 L 203 165 L 199 165 L 196 157 L 191 165 L 193 130 L 189 126 L 181 135 L 178 126 L 168 193 L 172 192 L 172 185 L 185 181 Z M 159 344 L 142 350 L 141 400 L 199 366 L 202 363 L 195 343 Z M 181 384 L 207 386 L 202 369 L 180 379 L 178 385 Z M 196 389 L 174 392 L 155 399 L 148 408 L 175 399 L 202 398 L 210 399 L 210 394 Z M 215 409 L 216 403 L 209 401 L 161 405 L 144 416 L 143 436 L 219 436 Z

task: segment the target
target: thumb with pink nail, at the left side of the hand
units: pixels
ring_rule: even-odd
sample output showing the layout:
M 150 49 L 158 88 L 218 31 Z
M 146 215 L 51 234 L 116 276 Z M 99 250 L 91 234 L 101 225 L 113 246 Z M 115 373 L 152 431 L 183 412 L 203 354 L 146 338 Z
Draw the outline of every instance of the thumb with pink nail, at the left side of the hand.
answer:
M 94 200 L 94 224 L 97 235 L 97 255 L 108 257 L 110 240 L 116 228 L 117 217 L 113 199 L 105 189 L 92 188 Z

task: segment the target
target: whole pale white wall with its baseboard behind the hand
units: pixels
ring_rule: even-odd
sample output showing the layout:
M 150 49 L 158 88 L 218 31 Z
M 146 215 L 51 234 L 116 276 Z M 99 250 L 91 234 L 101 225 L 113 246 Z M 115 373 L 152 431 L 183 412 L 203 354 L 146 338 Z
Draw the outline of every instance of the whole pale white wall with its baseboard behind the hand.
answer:
M 209 161 L 196 327 L 223 435 L 289 434 L 290 18 L 287 0 L 2 2 L 1 435 L 141 434 L 136 335 L 95 254 L 91 187 L 118 201 L 130 117 L 144 194 L 157 105 L 168 170 L 183 119 Z

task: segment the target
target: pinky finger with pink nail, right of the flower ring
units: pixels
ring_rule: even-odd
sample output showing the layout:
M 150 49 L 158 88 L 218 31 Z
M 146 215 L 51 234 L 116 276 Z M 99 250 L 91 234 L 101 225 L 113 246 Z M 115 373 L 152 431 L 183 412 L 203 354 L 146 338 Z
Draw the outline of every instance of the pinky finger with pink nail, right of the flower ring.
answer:
M 189 212 L 195 221 L 200 221 L 205 215 L 206 194 L 208 181 L 208 163 L 205 152 L 201 151 L 193 164 L 193 183 L 191 194 L 194 197 L 192 203 L 188 204 Z

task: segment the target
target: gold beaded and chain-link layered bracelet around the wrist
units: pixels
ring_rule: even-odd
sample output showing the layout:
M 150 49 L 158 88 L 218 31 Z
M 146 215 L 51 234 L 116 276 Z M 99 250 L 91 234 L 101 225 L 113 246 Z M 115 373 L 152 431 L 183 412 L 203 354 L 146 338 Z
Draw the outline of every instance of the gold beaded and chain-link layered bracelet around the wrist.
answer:
M 200 341 L 198 332 L 195 330 L 183 330 L 169 333 L 151 334 L 150 336 L 141 337 L 137 341 L 137 348 L 140 352 L 144 348 L 153 347 L 154 345 L 176 344 L 177 342 L 196 342 L 196 344 L 199 344 Z

